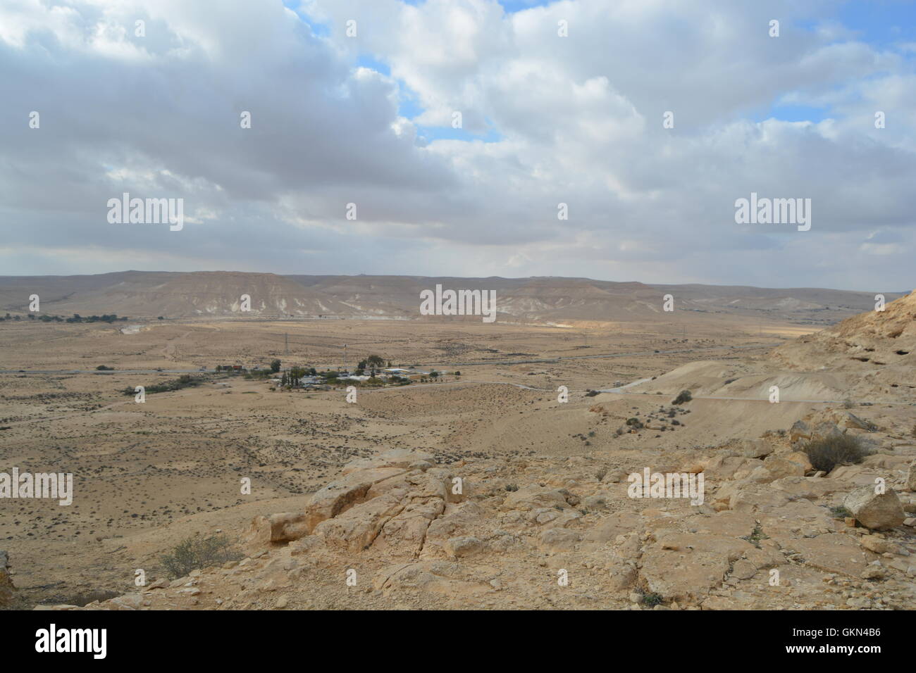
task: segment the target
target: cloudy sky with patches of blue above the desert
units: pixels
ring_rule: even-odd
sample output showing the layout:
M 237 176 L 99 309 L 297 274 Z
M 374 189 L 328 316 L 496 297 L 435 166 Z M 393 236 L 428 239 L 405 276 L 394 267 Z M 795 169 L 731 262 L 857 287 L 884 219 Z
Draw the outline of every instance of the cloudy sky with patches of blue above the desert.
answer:
M 0 3 L 0 275 L 908 291 L 914 213 L 913 2 Z

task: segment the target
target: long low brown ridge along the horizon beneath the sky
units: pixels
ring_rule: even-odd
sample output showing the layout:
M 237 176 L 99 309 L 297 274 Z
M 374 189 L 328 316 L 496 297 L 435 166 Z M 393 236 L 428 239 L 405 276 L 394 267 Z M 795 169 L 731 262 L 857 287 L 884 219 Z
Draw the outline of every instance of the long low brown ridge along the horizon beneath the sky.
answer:
M 871 309 L 874 292 L 824 288 L 649 285 L 569 277 L 280 276 L 241 271 L 122 271 L 93 276 L 0 277 L 0 309 L 26 312 L 38 294 L 42 313 L 117 313 L 135 320 L 171 319 L 388 319 L 419 320 L 420 291 L 496 290 L 498 320 L 673 320 L 676 311 L 769 316 L 832 323 Z M 884 292 L 888 301 L 905 293 Z M 251 298 L 242 312 L 241 298 Z M 436 320 L 426 318 L 423 320 Z

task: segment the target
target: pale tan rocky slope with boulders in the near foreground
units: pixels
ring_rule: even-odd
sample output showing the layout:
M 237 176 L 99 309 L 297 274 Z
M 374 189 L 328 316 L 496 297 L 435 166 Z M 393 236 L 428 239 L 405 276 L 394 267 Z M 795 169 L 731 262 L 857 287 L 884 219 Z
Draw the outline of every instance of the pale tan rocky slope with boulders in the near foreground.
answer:
M 797 450 L 843 433 L 872 455 L 824 474 Z M 85 609 L 913 609 L 914 454 L 842 410 L 668 464 L 393 450 L 257 516 L 245 559 Z M 702 473 L 703 505 L 629 497 L 645 467 Z

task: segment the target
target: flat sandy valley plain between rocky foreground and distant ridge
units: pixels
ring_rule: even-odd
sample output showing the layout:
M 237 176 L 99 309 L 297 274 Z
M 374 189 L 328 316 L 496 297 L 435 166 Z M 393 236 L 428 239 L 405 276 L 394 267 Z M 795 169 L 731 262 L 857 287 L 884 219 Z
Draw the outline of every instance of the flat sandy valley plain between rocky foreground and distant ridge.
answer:
M 678 427 L 617 431 L 627 418 L 670 405 L 685 382 L 679 367 L 692 367 L 694 379 L 722 368 L 761 370 L 771 346 L 804 331 L 791 324 L 725 317 L 565 328 L 380 320 L 121 327 L 0 325 L 0 369 L 114 367 L 0 374 L 3 465 L 72 472 L 75 483 L 71 506 L 0 501 L 0 548 L 10 555 L 18 607 L 127 592 L 136 569 L 155 574 L 159 556 L 181 539 L 237 531 L 256 514 L 300 507 L 344 464 L 383 450 L 424 450 L 443 465 L 519 456 L 645 461 L 785 429 L 817 407 L 771 405 L 746 387 L 737 396 L 747 399 L 696 399 Z M 325 369 L 370 353 L 447 374 L 436 384 L 360 391 L 356 404 L 346 403 L 343 388 L 287 392 L 213 374 L 216 364 L 266 365 L 275 357 Z M 122 393 L 178 375 L 132 370 L 202 366 L 209 371 L 194 374 L 204 379 L 198 387 L 149 394 L 144 404 Z M 587 395 L 656 376 L 623 394 Z M 558 402 L 561 385 L 569 388 L 566 404 Z M 245 477 L 251 494 L 241 493 Z

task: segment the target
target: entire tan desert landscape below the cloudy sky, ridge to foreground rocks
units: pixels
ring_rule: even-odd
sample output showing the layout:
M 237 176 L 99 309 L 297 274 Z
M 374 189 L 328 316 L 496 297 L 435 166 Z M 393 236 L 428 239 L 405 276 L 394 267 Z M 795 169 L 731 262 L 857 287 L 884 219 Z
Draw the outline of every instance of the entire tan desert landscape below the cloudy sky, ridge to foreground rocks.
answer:
M 498 319 L 420 316 L 437 284 L 495 288 Z M 0 455 L 73 478 L 71 505 L 0 499 L 6 608 L 916 607 L 916 295 L 128 272 L 0 297 Z M 634 496 L 649 473 L 700 497 Z

